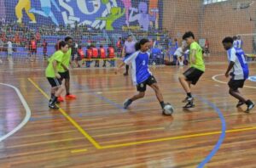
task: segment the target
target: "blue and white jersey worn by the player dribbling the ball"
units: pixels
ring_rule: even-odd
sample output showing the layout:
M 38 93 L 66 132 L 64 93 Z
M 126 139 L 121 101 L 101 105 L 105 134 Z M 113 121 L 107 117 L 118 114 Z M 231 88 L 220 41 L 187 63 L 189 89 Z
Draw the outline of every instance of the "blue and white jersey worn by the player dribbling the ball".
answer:
M 131 64 L 131 76 L 134 85 L 138 85 L 146 81 L 152 73 L 148 69 L 148 59 L 150 53 L 142 53 L 137 51 L 131 56 L 124 59 L 125 64 Z

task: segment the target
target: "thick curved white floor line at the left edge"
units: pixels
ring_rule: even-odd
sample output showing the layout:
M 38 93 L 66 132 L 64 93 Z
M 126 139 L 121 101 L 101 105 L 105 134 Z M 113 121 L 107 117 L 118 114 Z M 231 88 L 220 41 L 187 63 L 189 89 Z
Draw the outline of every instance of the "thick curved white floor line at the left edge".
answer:
M 20 122 L 20 124 L 18 126 L 16 126 L 15 129 L 13 129 L 11 132 L 8 132 L 3 137 L 0 137 L 0 142 L 2 142 L 4 139 L 6 139 L 7 137 L 10 137 L 11 135 L 15 134 L 15 132 L 18 132 L 23 126 L 26 125 L 26 123 L 28 122 L 28 120 L 31 117 L 31 110 L 29 109 L 28 105 L 26 104 L 25 98 L 22 96 L 22 94 L 20 93 L 20 90 L 17 87 L 14 87 L 12 85 L 5 84 L 5 83 L 0 83 L 0 85 L 6 86 L 6 87 L 11 87 L 11 88 L 15 89 L 15 92 L 17 93 L 17 95 L 20 98 L 21 104 L 26 109 L 26 116 L 22 120 L 22 122 Z

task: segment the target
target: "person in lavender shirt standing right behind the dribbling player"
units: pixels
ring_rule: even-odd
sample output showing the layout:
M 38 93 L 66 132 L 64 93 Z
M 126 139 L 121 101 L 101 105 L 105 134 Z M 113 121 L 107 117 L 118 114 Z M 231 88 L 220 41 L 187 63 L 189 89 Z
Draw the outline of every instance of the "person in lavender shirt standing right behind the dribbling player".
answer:
M 135 44 L 136 42 L 133 40 L 132 36 L 129 35 L 127 37 L 127 40 L 125 41 L 125 46 L 122 52 L 122 56 L 125 57 L 125 59 L 127 59 L 132 53 L 135 53 L 136 51 Z M 124 76 L 128 76 L 128 71 L 129 71 L 129 65 L 126 64 Z

